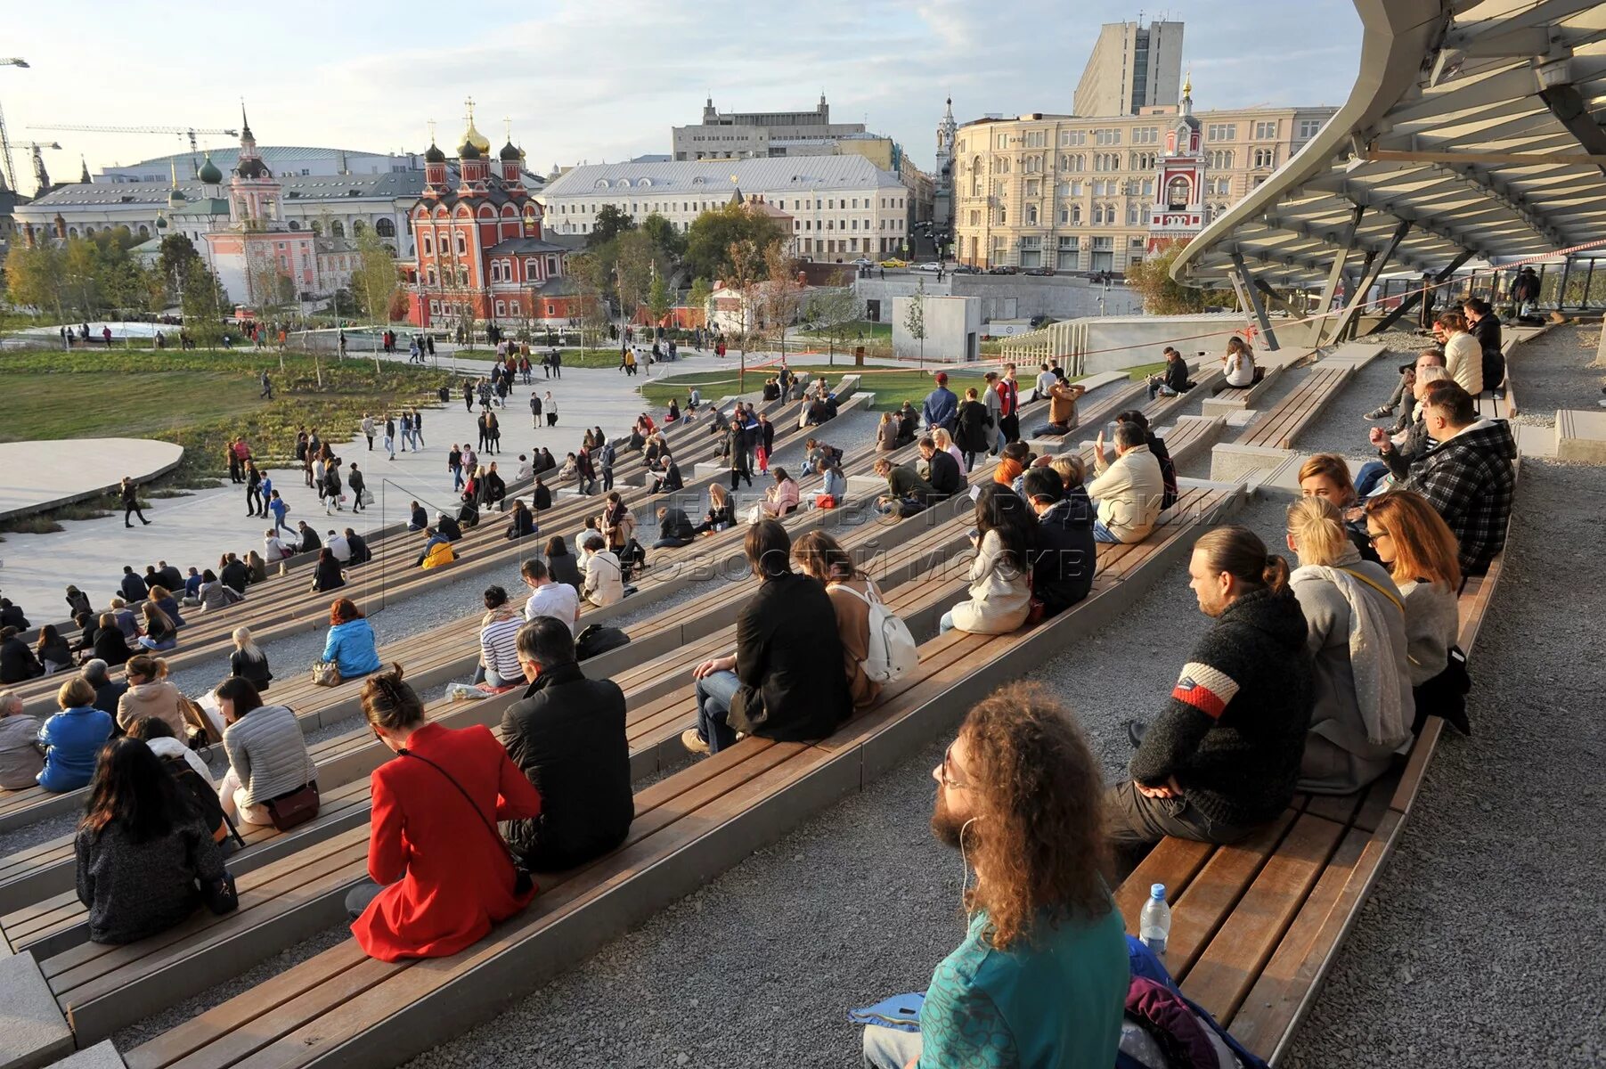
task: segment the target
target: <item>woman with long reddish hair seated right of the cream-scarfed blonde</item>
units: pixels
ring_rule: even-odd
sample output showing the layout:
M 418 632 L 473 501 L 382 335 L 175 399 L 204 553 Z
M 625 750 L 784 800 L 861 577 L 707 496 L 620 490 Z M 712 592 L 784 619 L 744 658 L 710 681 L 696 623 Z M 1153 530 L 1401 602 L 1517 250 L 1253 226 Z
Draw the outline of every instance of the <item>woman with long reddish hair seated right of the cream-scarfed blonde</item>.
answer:
M 1431 504 L 1408 490 L 1392 490 L 1367 502 L 1367 533 L 1405 602 L 1405 658 L 1416 698 L 1412 730 L 1420 732 L 1431 714 L 1471 734 L 1463 700 L 1465 656 L 1455 648 L 1461 629 L 1455 533 Z

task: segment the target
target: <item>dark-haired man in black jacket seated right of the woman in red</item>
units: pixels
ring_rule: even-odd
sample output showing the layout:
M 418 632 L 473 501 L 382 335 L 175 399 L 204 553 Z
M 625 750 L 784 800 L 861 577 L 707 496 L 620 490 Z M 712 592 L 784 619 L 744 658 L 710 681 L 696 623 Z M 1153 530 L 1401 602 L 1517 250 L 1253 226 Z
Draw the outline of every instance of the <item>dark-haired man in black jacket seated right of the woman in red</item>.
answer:
M 625 692 L 586 679 L 556 616 L 519 628 L 519 665 L 535 682 L 503 713 L 507 756 L 541 793 L 541 815 L 507 822 L 507 843 L 536 872 L 559 872 L 625 841 L 634 817 Z

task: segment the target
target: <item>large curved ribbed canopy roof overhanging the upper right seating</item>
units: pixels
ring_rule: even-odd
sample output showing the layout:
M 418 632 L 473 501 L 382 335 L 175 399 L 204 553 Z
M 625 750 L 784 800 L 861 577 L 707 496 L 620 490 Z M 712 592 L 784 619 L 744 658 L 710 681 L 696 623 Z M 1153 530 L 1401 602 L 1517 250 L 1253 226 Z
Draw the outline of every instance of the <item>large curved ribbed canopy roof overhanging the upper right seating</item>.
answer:
M 1217 286 L 1241 257 L 1259 281 L 1309 286 L 1344 249 L 1376 273 L 1437 273 L 1606 234 L 1598 3 L 1354 3 L 1362 51 L 1349 100 L 1182 250 L 1177 281 Z

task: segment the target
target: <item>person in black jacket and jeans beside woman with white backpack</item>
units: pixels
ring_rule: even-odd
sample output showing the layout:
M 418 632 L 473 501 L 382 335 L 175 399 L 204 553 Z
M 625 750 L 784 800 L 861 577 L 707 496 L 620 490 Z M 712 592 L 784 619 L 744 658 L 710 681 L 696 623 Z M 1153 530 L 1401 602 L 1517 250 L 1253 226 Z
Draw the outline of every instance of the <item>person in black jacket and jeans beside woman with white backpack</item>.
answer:
M 697 727 L 681 732 L 692 753 L 718 753 L 739 730 L 776 742 L 824 738 L 853 711 L 837 610 L 817 579 L 792 570 L 787 528 L 761 520 L 747 528 L 744 549 L 758 592 L 737 615 L 736 653 L 692 671 Z

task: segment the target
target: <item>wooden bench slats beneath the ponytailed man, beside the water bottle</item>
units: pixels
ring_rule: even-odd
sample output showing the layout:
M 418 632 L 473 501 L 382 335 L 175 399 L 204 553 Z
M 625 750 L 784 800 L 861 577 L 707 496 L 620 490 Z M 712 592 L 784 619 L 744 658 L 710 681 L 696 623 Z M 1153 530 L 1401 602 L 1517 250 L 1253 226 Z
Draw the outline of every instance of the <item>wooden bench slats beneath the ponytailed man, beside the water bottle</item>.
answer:
M 1503 557 L 1463 587 L 1460 645 L 1468 652 L 1502 568 Z M 1280 820 L 1235 846 L 1164 839 L 1116 891 L 1135 934 L 1148 886 L 1166 884 L 1168 968 L 1261 1058 L 1275 1064 L 1315 1003 L 1399 841 L 1442 729 L 1429 717 L 1404 767 L 1365 791 L 1296 798 Z

